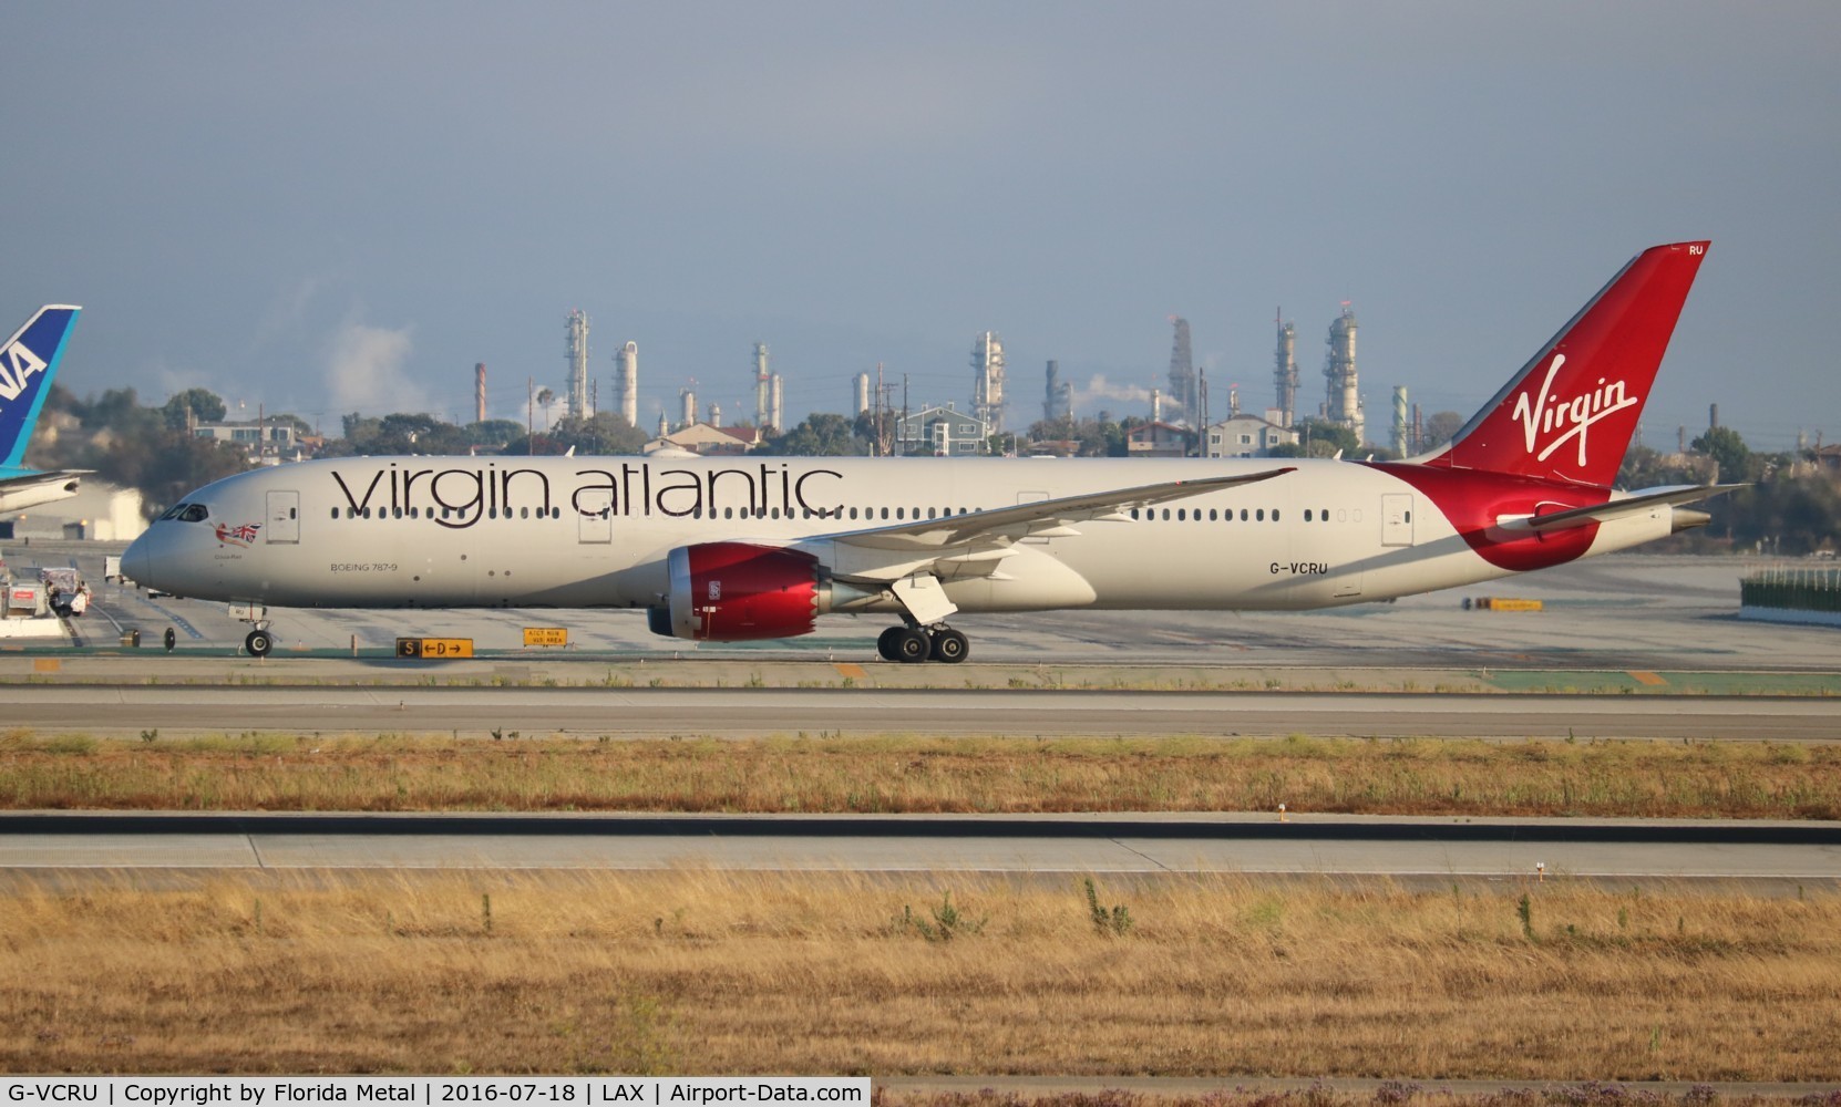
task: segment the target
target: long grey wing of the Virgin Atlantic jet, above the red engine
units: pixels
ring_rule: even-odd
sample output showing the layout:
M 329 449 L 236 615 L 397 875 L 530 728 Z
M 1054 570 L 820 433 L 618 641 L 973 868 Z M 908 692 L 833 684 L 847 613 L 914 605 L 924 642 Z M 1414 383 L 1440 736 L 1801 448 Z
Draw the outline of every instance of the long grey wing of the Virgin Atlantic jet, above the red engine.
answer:
M 825 541 L 838 550 L 834 574 L 845 581 L 886 583 L 928 568 L 935 572 L 952 568 L 963 574 L 974 565 L 983 565 L 983 572 L 989 574 L 1022 539 L 1077 537 L 1081 531 L 1073 526 L 1079 522 L 1119 522 L 1129 519 L 1125 513 L 1132 508 L 1257 484 L 1292 471 L 1294 467 L 1287 465 L 1243 476 L 1198 476 L 1195 480 L 1143 484 L 1016 504 L 1014 508 L 843 531 L 827 535 Z

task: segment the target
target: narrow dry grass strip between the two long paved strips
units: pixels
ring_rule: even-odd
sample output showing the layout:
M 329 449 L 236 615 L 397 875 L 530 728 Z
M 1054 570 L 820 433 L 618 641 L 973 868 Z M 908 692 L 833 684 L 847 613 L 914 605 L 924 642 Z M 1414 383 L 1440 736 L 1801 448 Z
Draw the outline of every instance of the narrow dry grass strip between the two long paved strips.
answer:
M 1841 748 L 1239 737 L 0 734 L 0 807 L 1841 818 Z

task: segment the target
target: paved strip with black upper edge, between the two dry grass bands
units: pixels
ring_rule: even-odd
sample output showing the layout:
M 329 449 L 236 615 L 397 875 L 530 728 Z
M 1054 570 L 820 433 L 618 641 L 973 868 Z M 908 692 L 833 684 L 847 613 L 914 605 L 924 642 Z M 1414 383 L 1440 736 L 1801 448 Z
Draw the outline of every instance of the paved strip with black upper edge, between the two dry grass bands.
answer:
M 1841 824 L 1215 816 L 0 815 L 0 870 L 768 870 L 1841 883 Z M 1440 884 L 1443 886 L 1443 884 Z

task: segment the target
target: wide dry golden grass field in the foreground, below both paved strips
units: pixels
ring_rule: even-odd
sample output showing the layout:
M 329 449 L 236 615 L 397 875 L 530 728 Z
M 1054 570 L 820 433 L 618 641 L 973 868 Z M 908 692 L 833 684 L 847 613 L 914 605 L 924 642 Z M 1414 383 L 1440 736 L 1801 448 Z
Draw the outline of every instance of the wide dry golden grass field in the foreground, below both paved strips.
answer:
M 1834 896 L 142 879 L 0 901 L 0 1068 L 1841 1079 Z

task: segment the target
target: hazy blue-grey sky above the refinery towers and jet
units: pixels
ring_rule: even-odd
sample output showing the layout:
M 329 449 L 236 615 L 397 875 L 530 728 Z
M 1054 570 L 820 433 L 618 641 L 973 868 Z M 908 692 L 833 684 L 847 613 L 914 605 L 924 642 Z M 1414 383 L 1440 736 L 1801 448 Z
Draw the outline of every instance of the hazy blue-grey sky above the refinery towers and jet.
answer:
M 1841 6 L 15 4 L 0 142 L 7 329 L 83 303 L 63 382 L 525 416 L 639 342 L 641 423 L 690 379 L 788 421 L 884 362 L 1011 427 L 1059 359 L 1145 414 L 1171 314 L 1213 406 L 1300 410 L 1360 320 L 1390 388 L 1469 414 L 1627 257 L 1712 239 L 1644 417 L 1841 439 Z

